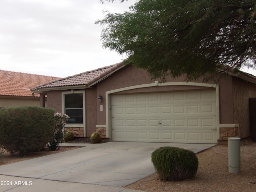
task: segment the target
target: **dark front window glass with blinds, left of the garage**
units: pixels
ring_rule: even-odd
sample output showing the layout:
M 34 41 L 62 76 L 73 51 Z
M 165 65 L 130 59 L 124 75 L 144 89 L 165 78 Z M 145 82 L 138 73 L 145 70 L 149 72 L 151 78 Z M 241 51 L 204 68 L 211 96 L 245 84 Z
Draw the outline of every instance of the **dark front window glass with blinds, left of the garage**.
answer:
M 64 94 L 64 113 L 70 118 L 67 124 L 83 124 L 83 94 Z

